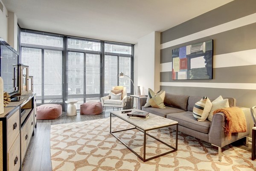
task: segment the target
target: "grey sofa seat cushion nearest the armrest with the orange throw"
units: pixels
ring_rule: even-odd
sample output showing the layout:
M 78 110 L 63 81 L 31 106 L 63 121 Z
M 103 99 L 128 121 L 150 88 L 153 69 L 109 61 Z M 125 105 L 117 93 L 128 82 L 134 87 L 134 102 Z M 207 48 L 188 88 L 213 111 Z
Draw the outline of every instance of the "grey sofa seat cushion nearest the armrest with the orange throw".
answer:
M 198 122 L 196 118 L 194 118 L 193 113 L 189 111 L 181 113 L 170 113 L 166 115 L 166 118 L 177 121 L 179 125 L 201 133 L 209 133 L 209 128 L 211 126 L 211 122 L 208 120 Z

